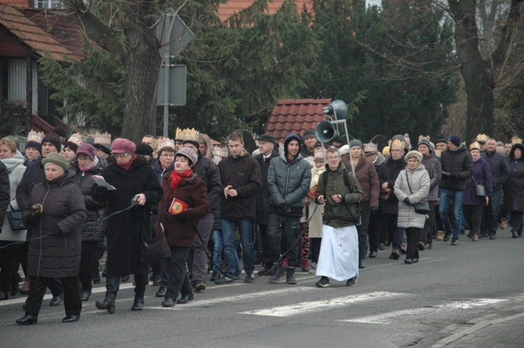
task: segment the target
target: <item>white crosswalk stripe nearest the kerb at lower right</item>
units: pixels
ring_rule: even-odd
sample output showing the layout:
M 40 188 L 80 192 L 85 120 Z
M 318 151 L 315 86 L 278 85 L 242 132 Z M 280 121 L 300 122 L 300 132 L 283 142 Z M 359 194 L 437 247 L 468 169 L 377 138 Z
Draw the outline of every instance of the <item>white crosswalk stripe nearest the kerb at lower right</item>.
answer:
M 344 319 L 339 321 L 346 321 L 350 323 L 364 323 L 364 324 L 390 324 L 392 321 L 398 320 L 399 317 L 407 317 L 414 314 L 429 314 L 439 310 L 469 310 L 473 307 L 480 307 L 483 305 L 493 305 L 507 301 L 502 298 L 476 298 L 465 301 L 453 301 L 451 303 L 444 303 L 443 305 L 436 305 L 434 307 L 412 308 L 409 310 L 398 310 L 384 314 L 370 315 L 367 317 Z

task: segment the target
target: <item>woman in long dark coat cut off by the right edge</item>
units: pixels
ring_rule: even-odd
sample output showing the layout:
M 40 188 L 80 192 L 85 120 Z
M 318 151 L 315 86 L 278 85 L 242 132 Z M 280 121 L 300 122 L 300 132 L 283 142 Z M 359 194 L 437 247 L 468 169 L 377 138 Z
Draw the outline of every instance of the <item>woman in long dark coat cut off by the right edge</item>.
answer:
M 504 210 L 511 213 L 511 235 L 522 237 L 524 212 L 524 145 L 515 144 L 509 151 L 509 179 L 504 185 Z

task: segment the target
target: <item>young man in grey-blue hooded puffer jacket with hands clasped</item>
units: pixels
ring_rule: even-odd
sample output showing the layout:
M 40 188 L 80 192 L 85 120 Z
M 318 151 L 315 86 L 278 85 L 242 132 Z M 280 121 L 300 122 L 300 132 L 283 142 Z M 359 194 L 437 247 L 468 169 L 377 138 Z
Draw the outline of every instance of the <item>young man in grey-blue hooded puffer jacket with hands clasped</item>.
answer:
M 268 235 L 270 238 L 270 263 L 279 261 L 287 250 L 288 267 L 277 264 L 270 283 L 278 282 L 284 274 L 287 284 L 296 284 L 295 265 L 298 261 L 298 242 L 300 217 L 303 215 L 305 197 L 310 191 L 311 165 L 300 154 L 300 137 L 290 133 L 284 140 L 284 153 L 272 159 L 268 169 L 268 189 L 270 194 Z

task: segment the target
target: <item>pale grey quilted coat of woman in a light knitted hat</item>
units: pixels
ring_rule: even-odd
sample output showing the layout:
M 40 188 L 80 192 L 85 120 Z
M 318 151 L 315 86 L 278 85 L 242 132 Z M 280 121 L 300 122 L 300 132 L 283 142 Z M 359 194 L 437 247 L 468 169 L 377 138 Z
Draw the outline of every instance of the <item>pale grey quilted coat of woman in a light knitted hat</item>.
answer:
M 407 180 L 409 180 L 413 194 L 409 191 Z M 426 215 L 415 212 L 413 204 L 428 196 L 429 191 L 430 175 L 423 164 L 419 164 L 414 171 L 406 168 L 400 172 L 395 181 L 395 196 L 398 198 L 398 227 L 416 227 L 419 229 L 424 227 Z M 409 205 L 403 202 L 406 197 L 409 198 Z

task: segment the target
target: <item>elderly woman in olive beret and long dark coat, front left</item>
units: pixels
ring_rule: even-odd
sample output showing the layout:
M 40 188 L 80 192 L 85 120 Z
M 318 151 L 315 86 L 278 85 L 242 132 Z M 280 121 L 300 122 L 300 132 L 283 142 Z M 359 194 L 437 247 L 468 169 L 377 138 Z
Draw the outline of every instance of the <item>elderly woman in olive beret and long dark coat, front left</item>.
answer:
M 78 270 L 85 203 L 80 189 L 73 184 L 75 172 L 63 155 L 52 152 L 42 164 L 45 180 L 33 187 L 29 205 L 22 212 L 32 235 L 27 258 L 31 284 L 25 315 L 16 321 L 20 325 L 36 324 L 51 278 L 59 278 L 64 287 L 66 317 L 62 322 L 78 321 L 82 310 Z

